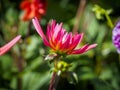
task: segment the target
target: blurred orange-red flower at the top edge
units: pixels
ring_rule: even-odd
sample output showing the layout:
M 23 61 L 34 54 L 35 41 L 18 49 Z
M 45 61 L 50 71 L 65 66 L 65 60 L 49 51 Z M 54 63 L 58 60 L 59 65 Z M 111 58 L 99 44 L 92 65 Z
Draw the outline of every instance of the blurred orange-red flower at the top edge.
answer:
M 23 0 L 20 4 L 20 8 L 24 10 L 21 19 L 27 21 L 33 17 L 41 18 L 46 14 L 46 7 L 46 0 Z

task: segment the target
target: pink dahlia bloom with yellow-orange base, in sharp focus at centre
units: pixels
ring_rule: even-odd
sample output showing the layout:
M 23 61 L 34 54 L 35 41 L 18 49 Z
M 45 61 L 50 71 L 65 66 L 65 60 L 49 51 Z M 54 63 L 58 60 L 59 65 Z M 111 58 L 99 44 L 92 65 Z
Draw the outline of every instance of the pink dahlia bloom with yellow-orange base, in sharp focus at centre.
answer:
M 51 25 L 47 26 L 46 35 L 43 33 L 42 28 L 37 18 L 32 20 L 36 31 L 41 36 L 44 44 L 52 49 L 57 54 L 82 54 L 92 48 L 95 48 L 97 44 L 84 45 L 83 47 L 76 49 L 80 44 L 83 33 L 72 35 L 72 32 L 68 33 L 62 27 L 62 23 L 57 24 L 55 20 L 52 20 Z

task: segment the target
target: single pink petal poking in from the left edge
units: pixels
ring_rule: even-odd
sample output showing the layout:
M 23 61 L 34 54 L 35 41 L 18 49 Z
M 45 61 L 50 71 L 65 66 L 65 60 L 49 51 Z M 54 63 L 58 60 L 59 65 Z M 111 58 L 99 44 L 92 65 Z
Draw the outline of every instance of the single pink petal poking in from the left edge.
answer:
M 21 36 L 16 36 L 12 41 L 8 42 L 6 45 L 0 47 L 0 56 L 5 54 L 12 46 L 14 46 L 19 40 Z

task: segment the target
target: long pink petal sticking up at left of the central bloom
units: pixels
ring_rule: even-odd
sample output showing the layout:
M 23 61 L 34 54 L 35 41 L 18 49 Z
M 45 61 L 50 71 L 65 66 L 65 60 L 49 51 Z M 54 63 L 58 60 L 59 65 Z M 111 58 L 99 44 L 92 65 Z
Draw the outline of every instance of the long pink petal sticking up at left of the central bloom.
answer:
M 39 24 L 38 19 L 35 17 L 34 19 L 32 19 L 32 22 L 33 22 L 33 25 L 35 26 L 36 31 L 38 32 L 38 34 L 39 34 L 39 35 L 41 36 L 41 38 L 43 39 L 44 44 L 45 44 L 46 46 L 49 46 L 49 42 L 47 41 L 47 39 L 46 39 L 46 37 L 45 37 L 45 35 L 44 35 L 43 31 L 42 31 L 42 28 L 41 28 L 41 26 L 40 26 L 40 24 Z

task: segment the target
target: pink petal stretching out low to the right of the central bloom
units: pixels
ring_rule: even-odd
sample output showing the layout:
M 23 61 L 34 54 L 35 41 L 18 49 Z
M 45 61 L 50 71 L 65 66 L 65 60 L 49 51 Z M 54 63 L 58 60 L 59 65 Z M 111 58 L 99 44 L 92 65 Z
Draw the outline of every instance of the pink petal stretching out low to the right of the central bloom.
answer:
M 80 49 L 76 49 L 76 50 L 73 50 L 71 53 L 69 54 L 82 54 L 82 53 L 85 53 L 86 51 L 92 49 L 92 48 L 95 48 L 97 46 L 97 44 L 92 44 L 92 45 L 84 45 L 83 47 L 81 47 Z

